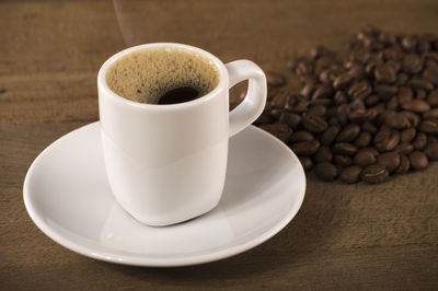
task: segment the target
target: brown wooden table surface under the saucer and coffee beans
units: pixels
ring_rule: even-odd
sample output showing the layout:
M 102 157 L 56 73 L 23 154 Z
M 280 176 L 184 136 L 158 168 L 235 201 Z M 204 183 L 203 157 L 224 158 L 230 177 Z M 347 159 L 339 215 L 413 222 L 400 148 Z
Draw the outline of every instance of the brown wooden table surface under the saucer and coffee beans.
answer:
M 80 256 L 44 235 L 23 205 L 37 154 L 97 120 L 96 72 L 114 53 L 176 42 L 284 70 L 318 44 L 344 50 L 368 23 L 438 33 L 438 2 L 1 1 L 0 289 L 437 289 L 438 163 L 377 186 L 308 177 L 299 213 L 272 240 L 184 268 Z

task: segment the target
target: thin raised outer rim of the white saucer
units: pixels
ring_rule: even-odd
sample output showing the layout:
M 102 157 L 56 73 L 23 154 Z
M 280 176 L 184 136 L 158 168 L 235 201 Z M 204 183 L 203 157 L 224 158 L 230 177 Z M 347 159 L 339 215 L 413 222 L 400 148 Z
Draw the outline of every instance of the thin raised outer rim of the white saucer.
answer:
M 226 247 L 216 252 L 211 253 L 203 253 L 199 255 L 184 255 L 181 257 L 148 257 L 145 254 L 138 254 L 138 256 L 130 256 L 130 255 L 122 255 L 122 254 L 114 254 L 114 253 L 108 253 L 106 251 L 102 251 L 99 247 L 90 247 L 87 245 L 83 245 L 81 243 L 78 243 L 74 240 L 69 240 L 66 236 L 59 234 L 56 230 L 50 228 L 44 220 L 44 218 L 41 217 L 38 213 L 37 209 L 34 208 L 32 203 L 32 190 L 30 189 L 30 181 L 31 177 L 33 176 L 35 172 L 36 165 L 46 158 L 46 155 L 51 151 L 54 147 L 57 146 L 57 143 L 61 142 L 64 139 L 70 137 L 70 135 L 77 133 L 79 130 L 84 130 L 88 127 L 100 127 L 100 121 L 94 121 L 84 126 L 81 126 L 77 129 L 71 130 L 70 132 L 64 135 L 62 137 L 56 139 L 54 142 L 51 142 L 47 148 L 45 148 L 38 155 L 37 158 L 32 162 L 31 166 L 27 170 L 27 173 L 24 178 L 24 184 L 23 184 L 23 200 L 24 200 L 24 206 L 26 208 L 26 211 L 28 216 L 31 217 L 32 221 L 35 223 L 35 225 L 48 237 L 50 237 L 54 242 L 57 244 L 66 247 L 67 249 L 70 249 L 74 253 L 78 253 L 80 255 L 83 255 L 85 257 L 90 257 L 93 259 L 99 259 L 99 260 L 104 260 L 108 263 L 114 263 L 114 264 L 119 264 L 119 265 L 129 265 L 129 266 L 142 266 L 142 267 L 182 267 L 182 266 L 193 266 L 193 265 L 200 265 L 205 263 L 210 263 L 210 261 L 216 261 L 220 259 L 224 259 L 228 257 L 235 256 L 238 254 L 244 253 L 251 248 L 254 248 L 255 246 L 258 246 L 263 244 L 264 242 L 268 241 L 272 238 L 274 235 L 276 235 L 278 232 L 280 232 L 286 225 L 289 224 L 289 222 L 297 216 L 299 209 L 302 206 L 302 202 L 304 200 L 306 196 L 306 188 L 307 188 L 307 179 L 306 179 L 306 174 L 304 171 L 301 166 L 301 163 L 299 162 L 297 155 L 279 139 L 270 135 L 269 132 L 260 129 L 255 126 L 249 126 L 251 127 L 251 130 L 256 130 L 258 133 L 262 133 L 265 138 L 268 138 L 283 147 L 284 150 L 289 152 L 289 155 L 292 158 L 293 162 L 300 167 L 299 171 L 301 172 L 301 177 L 303 179 L 303 186 L 300 188 L 299 191 L 293 193 L 293 195 L 297 195 L 298 197 L 296 198 L 297 202 L 292 205 L 290 210 L 284 216 L 281 220 L 279 220 L 277 223 L 275 223 L 273 226 L 269 228 L 268 231 L 262 233 L 261 235 L 251 238 L 244 243 L 231 246 L 231 247 Z M 245 128 L 244 130 L 247 130 L 249 128 Z M 243 131 L 243 130 L 242 130 Z M 238 133 L 239 135 L 239 133 Z M 238 136 L 237 135 L 237 136 Z M 120 251 L 123 252 L 123 251 Z M 132 253 L 135 254 L 135 253 Z

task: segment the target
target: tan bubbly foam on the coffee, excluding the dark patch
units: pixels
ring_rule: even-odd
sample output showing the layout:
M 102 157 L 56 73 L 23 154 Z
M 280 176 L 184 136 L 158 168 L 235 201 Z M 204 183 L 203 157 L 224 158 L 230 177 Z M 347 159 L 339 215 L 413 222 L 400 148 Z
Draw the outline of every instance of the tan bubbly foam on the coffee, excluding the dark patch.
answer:
M 106 72 L 116 94 L 140 103 L 157 104 L 168 91 L 191 86 L 203 96 L 219 83 L 211 60 L 180 47 L 145 48 L 116 60 Z

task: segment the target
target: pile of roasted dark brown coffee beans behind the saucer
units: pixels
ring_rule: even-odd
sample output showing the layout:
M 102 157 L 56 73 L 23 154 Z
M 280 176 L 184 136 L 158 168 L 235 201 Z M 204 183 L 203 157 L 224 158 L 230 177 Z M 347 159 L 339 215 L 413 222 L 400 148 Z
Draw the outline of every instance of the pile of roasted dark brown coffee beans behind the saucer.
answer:
M 368 26 L 347 57 L 319 46 L 288 62 L 301 82 L 267 72 L 255 125 L 274 133 L 323 181 L 384 182 L 438 160 L 438 37 Z

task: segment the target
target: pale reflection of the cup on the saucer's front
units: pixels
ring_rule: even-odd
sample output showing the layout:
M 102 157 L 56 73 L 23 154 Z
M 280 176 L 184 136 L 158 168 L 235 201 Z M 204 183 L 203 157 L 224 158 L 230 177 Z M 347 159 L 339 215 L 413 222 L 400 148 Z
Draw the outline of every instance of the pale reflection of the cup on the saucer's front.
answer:
M 233 237 L 233 230 L 220 209 L 175 225 L 154 228 L 136 221 L 117 203 L 113 205 L 101 232 L 104 246 L 154 255 L 214 249 L 231 242 Z

